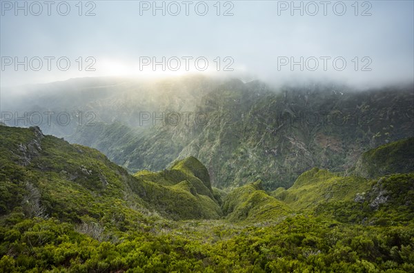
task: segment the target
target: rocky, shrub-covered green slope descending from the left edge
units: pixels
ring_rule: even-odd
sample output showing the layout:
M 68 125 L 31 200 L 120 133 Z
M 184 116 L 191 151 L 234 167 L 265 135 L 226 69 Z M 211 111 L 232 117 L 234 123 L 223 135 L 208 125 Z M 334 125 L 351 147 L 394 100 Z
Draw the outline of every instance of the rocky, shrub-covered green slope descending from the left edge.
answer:
M 136 181 L 126 170 L 39 128 L 0 125 L 0 165 L 1 215 L 52 216 L 109 230 L 136 230 L 157 219 L 130 190 Z

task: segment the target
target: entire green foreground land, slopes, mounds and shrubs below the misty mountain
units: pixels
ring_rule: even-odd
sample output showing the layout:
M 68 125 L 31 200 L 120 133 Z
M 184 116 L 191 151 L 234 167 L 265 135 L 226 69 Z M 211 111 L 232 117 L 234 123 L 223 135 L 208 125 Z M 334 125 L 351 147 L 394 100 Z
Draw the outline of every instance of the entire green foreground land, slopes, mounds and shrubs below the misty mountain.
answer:
M 225 192 L 194 157 L 131 176 L 3 125 L 0 167 L 0 272 L 414 271 L 414 170 L 313 168 L 287 190 Z

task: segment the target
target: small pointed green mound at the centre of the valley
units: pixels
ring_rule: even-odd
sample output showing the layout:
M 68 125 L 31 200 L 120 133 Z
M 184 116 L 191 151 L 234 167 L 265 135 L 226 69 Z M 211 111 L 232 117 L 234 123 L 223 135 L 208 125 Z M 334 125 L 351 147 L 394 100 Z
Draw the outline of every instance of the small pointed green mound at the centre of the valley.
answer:
M 177 161 L 162 172 L 144 170 L 134 176 L 138 187 L 132 189 L 164 216 L 172 219 L 218 219 L 221 216 L 208 171 L 194 157 Z

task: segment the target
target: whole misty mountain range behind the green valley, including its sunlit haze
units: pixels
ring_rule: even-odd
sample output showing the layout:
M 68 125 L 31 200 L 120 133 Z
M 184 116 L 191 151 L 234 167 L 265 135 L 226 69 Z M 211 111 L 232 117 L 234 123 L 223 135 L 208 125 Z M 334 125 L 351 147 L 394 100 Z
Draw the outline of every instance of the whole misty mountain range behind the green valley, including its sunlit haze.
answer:
M 72 79 L 36 88 L 40 99 L 6 97 L 3 109 L 67 112 L 68 125 L 54 114 L 39 127 L 98 149 L 131 174 L 195 156 L 221 189 L 257 180 L 266 190 L 289 188 L 314 167 L 344 172 L 363 152 L 414 132 L 412 85 L 358 91 L 182 77 Z

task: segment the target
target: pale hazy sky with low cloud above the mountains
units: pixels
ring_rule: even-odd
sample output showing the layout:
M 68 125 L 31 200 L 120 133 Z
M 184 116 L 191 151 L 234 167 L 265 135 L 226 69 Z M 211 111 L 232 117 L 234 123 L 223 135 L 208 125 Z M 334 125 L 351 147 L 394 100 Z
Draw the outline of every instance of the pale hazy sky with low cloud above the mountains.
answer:
M 1 87 L 183 74 L 186 64 L 189 72 L 275 83 L 413 81 L 413 1 L 0 2 Z

